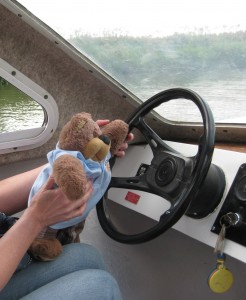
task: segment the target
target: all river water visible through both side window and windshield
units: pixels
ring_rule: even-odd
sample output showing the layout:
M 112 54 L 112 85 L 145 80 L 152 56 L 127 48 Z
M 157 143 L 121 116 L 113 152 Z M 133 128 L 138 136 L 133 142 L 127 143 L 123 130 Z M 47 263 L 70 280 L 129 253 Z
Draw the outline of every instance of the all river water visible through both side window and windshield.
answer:
M 216 122 L 246 123 L 246 81 L 199 81 L 186 85 L 208 102 Z M 170 87 L 148 86 L 138 93 L 141 99 Z M 173 121 L 201 121 L 200 113 L 191 101 L 174 100 L 162 104 L 157 112 Z M 41 127 L 44 120 L 42 107 L 11 85 L 0 86 L 0 132 L 11 132 Z M 236 121 L 237 122 L 237 121 Z

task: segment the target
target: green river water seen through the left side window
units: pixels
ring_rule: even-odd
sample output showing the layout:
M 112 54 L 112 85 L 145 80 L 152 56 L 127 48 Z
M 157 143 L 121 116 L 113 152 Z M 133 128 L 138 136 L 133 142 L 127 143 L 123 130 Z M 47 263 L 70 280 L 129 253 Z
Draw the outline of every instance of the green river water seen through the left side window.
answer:
M 0 132 L 41 127 L 43 121 L 37 102 L 9 83 L 0 84 Z

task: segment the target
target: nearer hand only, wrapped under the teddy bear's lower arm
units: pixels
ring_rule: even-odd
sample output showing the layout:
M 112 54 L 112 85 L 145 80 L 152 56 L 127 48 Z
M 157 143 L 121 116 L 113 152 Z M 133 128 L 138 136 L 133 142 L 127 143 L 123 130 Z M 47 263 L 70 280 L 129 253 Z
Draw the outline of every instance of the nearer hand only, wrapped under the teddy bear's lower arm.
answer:
M 92 182 L 88 181 L 84 196 L 76 201 L 70 201 L 61 189 L 53 189 L 54 184 L 55 180 L 50 176 L 42 189 L 34 196 L 27 209 L 27 211 L 32 211 L 42 227 L 81 216 L 86 209 L 86 203 L 93 189 Z

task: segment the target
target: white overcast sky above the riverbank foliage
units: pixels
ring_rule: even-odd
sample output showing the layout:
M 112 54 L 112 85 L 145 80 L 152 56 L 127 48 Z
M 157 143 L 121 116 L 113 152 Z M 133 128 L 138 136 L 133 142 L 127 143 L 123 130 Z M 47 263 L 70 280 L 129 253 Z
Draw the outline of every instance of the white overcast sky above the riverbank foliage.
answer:
M 246 30 L 246 0 L 20 0 L 22 5 L 69 37 L 118 32 L 165 36 L 176 31 L 225 27 Z

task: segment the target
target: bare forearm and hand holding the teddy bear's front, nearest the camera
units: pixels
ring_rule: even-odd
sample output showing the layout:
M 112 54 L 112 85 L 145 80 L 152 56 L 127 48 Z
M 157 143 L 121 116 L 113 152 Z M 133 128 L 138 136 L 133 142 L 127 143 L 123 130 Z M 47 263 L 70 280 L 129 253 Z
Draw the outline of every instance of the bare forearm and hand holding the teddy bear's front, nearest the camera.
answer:
M 59 188 L 52 189 L 54 183 L 54 179 L 49 178 L 20 219 L 0 239 L 0 291 L 44 227 L 83 214 L 92 192 L 91 182 L 87 184 L 86 194 L 77 201 L 69 201 Z

